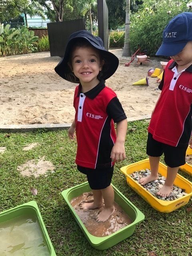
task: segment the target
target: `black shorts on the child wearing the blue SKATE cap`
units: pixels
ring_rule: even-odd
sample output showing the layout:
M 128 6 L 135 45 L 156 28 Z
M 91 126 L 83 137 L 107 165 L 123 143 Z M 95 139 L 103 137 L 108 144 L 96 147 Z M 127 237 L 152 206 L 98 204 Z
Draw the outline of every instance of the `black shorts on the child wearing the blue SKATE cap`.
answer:
M 185 164 L 185 155 L 188 145 L 170 146 L 162 142 L 154 140 L 152 134 L 148 133 L 147 154 L 148 156 L 162 156 L 164 153 L 164 161 L 167 166 L 174 168 Z

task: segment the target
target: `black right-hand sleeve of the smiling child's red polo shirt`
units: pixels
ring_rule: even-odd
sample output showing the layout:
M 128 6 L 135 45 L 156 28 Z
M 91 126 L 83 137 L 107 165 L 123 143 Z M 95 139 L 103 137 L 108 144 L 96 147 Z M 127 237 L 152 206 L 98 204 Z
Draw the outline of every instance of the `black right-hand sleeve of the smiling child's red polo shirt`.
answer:
M 108 116 L 113 119 L 114 123 L 118 123 L 127 118 L 117 97 L 114 97 L 112 100 L 110 100 L 107 105 L 106 112 Z

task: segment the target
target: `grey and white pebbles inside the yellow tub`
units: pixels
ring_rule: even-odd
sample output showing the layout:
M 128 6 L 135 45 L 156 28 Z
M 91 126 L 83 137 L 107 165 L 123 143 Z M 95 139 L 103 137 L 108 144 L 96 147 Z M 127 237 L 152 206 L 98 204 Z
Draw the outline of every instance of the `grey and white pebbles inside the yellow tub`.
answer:
M 145 170 L 136 171 L 129 175 L 136 182 L 140 183 L 140 178 L 146 177 L 150 174 L 151 174 L 150 170 L 146 168 Z M 157 196 L 156 193 L 163 187 L 163 185 L 166 181 L 165 176 L 161 176 L 161 174 L 158 174 L 158 176 L 159 177 L 156 180 L 149 182 L 143 186 L 148 192 L 150 192 L 150 194 L 152 194 L 156 198 L 164 200 L 164 201 L 173 201 L 173 200 L 176 200 L 177 198 L 181 198 L 182 196 L 187 195 L 187 193 L 185 192 L 184 189 L 179 188 L 178 186 L 174 185 L 173 191 L 170 193 L 170 195 L 168 197 Z

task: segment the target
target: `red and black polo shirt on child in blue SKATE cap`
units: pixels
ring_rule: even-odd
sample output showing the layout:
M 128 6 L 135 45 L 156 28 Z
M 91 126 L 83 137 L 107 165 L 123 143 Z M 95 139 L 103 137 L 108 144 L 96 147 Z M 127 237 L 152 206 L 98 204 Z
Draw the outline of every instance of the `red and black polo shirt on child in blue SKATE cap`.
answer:
M 192 130 L 192 65 L 177 72 L 170 60 L 159 85 L 162 90 L 148 132 L 170 146 L 188 144 Z

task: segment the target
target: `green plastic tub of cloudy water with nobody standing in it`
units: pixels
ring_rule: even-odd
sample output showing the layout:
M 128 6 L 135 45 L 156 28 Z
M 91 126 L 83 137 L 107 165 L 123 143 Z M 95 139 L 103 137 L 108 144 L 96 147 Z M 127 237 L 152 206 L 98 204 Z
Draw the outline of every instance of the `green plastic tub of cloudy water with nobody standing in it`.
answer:
M 0 256 L 56 256 L 35 201 L 0 212 L 0 237 Z

